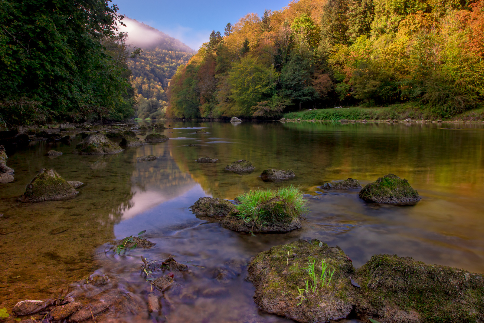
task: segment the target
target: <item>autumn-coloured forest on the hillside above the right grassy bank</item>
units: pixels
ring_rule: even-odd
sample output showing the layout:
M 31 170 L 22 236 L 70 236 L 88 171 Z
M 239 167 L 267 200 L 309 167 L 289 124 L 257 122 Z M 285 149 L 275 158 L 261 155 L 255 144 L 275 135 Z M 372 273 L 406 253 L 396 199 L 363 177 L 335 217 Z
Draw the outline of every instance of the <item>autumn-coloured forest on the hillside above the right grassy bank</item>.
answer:
M 301 108 L 482 106 L 483 0 L 300 0 L 213 31 L 171 79 L 176 118 L 277 117 Z

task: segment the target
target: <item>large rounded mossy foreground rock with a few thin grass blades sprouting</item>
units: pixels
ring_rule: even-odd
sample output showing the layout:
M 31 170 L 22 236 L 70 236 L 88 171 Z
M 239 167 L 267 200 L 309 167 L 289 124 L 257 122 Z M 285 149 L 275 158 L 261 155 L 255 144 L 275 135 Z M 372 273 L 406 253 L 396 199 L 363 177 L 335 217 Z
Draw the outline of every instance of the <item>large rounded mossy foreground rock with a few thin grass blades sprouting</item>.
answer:
M 308 262 L 315 262 L 316 274 L 321 275 L 321 262 L 333 271 L 329 284 L 321 281 L 313 293 L 305 289 Z M 355 304 L 355 287 L 350 277 L 354 268 L 339 247 L 330 247 L 318 240 L 298 240 L 287 245 L 274 246 L 257 254 L 247 267 L 247 280 L 256 288 L 254 300 L 266 312 L 297 322 L 328 322 L 347 317 Z M 308 281 L 309 287 L 312 282 Z

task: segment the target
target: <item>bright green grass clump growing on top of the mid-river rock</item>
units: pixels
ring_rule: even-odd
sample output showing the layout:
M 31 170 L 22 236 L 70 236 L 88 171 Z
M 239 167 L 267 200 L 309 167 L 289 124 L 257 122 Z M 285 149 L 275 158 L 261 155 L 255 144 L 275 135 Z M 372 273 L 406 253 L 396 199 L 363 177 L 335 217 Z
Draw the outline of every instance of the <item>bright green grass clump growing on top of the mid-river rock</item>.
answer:
M 245 222 L 261 225 L 289 223 L 306 212 L 302 192 L 292 185 L 278 190 L 251 190 L 237 199 L 241 202 L 235 206 L 237 215 Z

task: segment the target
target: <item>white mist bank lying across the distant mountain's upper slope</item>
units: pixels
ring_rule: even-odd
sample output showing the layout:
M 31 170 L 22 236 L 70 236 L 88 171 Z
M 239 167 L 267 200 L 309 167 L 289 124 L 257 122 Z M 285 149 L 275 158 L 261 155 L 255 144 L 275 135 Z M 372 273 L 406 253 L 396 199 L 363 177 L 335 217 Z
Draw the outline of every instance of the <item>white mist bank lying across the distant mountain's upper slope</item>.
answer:
M 195 54 L 197 51 L 183 44 L 180 40 L 135 19 L 124 17 L 126 26 L 119 26 L 119 31 L 128 33 L 128 44 L 144 49 L 165 49 Z

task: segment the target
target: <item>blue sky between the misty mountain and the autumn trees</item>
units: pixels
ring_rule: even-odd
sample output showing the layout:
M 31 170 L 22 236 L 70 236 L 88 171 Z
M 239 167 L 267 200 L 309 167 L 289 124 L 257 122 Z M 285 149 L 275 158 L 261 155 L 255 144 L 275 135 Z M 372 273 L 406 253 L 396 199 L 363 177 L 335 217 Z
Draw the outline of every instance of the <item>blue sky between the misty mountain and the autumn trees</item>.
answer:
M 180 39 L 197 50 L 212 30 L 224 32 L 227 22 L 265 9 L 280 10 L 290 0 L 113 0 L 119 13 Z

